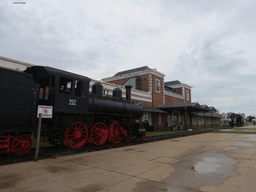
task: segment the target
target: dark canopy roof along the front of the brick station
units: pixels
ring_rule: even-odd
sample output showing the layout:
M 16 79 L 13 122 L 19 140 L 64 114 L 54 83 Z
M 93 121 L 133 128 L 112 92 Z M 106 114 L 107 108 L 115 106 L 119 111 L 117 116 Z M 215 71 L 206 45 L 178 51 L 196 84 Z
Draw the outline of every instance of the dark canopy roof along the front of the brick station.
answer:
M 168 112 L 171 112 L 171 111 L 211 112 L 211 109 L 207 105 L 200 105 L 198 102 L 192 102 L 191 104 L 163 105 L 158 108 Z

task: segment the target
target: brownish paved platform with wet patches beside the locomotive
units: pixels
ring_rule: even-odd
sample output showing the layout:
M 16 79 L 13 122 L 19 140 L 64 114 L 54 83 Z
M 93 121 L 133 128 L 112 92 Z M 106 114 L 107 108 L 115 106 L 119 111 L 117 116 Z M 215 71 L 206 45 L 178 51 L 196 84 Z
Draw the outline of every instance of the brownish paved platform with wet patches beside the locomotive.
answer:
M 256 191 L 256 135 L 207 133 L 0 166 L 0 191 Z

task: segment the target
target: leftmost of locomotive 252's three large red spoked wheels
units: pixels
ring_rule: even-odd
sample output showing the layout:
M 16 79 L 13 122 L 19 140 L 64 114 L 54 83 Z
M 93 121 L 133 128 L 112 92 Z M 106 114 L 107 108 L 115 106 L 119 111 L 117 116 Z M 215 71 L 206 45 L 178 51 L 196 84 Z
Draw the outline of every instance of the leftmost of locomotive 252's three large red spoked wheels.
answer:
M 88 129 L 83 122 L 73 122 L 66 127 L 63 143 L 73 149 L 79 149 L 86 144 Z

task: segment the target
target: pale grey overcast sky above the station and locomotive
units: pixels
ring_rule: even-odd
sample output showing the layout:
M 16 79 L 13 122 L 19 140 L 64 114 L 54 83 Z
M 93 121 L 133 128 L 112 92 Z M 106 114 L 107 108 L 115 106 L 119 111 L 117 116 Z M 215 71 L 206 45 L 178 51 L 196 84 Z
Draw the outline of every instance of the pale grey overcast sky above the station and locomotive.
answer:
M 14 4 L 13 2 L 24 2 Z M 256 1 L 0 1 L 0 55 L 100 80 L 149 66 L 256 115 Z

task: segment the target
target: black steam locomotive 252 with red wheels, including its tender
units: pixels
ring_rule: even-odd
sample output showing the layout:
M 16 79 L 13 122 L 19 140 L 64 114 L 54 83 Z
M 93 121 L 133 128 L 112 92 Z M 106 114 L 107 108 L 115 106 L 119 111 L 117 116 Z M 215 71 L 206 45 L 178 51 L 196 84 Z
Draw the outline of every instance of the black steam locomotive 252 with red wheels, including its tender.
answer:
M 24 72 L 0 68 L 0 153 L 26 154 L 37 127 L 37 108 L 52 106 L 52 118 L 42 119 L 42 132 L 53 145 L 78 149 L 91 142 L 104 145 L 132 137 L 145 137 L 144 126 L 135 122 L 143 107 L 131 101 L 131 86 L 115 88 L 105 96 L 101 83 L 56 68 L 33 66 Z

